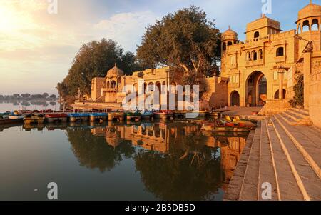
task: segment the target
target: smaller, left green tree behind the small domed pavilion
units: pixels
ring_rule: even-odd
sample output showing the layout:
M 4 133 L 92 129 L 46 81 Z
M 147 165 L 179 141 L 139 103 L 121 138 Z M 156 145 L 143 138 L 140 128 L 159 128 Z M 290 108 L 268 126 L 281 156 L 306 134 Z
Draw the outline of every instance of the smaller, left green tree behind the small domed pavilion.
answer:
M 142 69 L 131 52 L 124 53 L 116 41 L 101 39 L 83 44 L 73 59 L 71 69 L 63 82 L 57 84 L 60 96 L 76 96 L 78 89 L 82 94 L 91 91 L 91 79 L 106 76 L 106 72 L 115 64 L 125 74 Z

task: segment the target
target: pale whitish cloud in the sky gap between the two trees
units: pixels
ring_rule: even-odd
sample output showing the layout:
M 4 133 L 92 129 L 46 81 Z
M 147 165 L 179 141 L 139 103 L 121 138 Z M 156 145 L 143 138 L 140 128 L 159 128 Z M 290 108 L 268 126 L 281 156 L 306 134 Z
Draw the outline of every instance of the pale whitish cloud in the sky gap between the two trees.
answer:
M 146 26 L 153 24 L 158 17 L 151 11 L 120 13 L 109 19 L 102 19 L 94 29 L 108 39 L 118 41 L 125 50 L 136 51 Z

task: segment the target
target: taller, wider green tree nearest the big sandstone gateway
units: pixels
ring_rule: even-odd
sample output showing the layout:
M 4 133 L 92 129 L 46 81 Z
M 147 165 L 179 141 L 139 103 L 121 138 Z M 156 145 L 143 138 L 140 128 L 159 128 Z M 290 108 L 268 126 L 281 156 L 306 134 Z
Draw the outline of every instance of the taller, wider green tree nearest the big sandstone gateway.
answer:
M 189 82 L 185 84 L 194 84 L 200 76 L 218 71 L 220 31 L 203 10 L 190 6 L 148 26 L 137 56 L 143 64 L 154 68 L 178 67 L 174 71 L 184 72 L 185 82 Z

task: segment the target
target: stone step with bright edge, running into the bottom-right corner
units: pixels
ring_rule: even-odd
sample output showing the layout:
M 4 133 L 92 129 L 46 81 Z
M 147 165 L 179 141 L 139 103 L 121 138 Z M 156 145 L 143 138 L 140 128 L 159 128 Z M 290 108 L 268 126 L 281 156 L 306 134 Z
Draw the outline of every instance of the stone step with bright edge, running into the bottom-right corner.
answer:
M 282 150 L 287 157 L 287 161 L 290 164 L 291 170 L 297 185 L 300 188 L 302 196 L 305 200 L 320 200 L 321 199 L 321 180 L 315 174 L 310 164 L 302 155 L 301 151 L 297 149 L 295 143 L 288 136 L 287 132 L 279 121 L 277 121 L 277 116 L 271 117 L 273 126 L 275 127 L 275 132 L 280 140 Z M 279 118 L 280 119 L 280 118 Z

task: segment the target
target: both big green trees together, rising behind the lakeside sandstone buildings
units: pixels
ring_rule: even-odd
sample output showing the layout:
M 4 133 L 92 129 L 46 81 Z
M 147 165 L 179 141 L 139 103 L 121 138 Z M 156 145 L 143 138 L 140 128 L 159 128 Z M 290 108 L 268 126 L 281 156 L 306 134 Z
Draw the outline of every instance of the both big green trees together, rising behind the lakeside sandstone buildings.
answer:
M 136 54 L 110 39 L 83 44 L 56 89 L 67 104 L 88 98 L 92 79 L 105 77 L 116 64 L 125 75 L 169 66 L 173 74 L 183 72 L 181 84 L 200 85 L 202 94 L 207 90 L 203 79 L 220 74 L 220 38 L 215 20 L 208 20 L 203 9 L 193 5 L 179 9 L 146 28 Z

